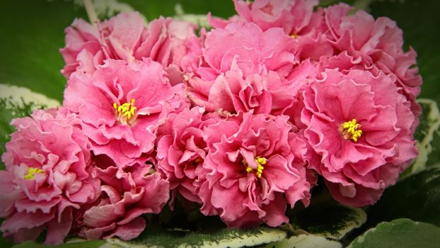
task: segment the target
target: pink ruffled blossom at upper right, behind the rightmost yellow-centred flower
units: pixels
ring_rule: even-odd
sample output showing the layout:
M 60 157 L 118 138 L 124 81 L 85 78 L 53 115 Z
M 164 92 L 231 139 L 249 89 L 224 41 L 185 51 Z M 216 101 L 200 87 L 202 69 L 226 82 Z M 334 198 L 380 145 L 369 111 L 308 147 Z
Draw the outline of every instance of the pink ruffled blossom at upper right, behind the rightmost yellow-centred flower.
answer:
M 328 40 L 335 47 L 335 54 L 347 51 L 352 62 L 366 69 L 383 71 L 397 77 L 395 83 L 412 103 L 412 111 L 418 117 L 421 109 L 415 98 L 420 93 L 422 77 L 418 74 L 417 53 L 410 48 L 403 51 L 403 31 L 395 21 L 374 17 L 364 11 L 347 15 L 352 7 L 339 4 L 325 9 Z M 330 68 L 330 67 L 329 67 Z M 336 67 L 333 67 L 336 68 Z M 376 76 L 378 73 L 375 73 Z

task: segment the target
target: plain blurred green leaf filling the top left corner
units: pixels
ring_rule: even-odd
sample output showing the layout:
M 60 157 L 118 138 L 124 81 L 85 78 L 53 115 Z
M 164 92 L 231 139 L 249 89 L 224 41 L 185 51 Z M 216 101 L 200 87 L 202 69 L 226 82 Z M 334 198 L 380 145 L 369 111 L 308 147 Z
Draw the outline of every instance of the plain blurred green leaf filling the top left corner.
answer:
M 73 1 L 0 1 L 0 83 L 61 101 L 66 79 L 58 50 L 76 17 L 86 18 L 86 11 Z

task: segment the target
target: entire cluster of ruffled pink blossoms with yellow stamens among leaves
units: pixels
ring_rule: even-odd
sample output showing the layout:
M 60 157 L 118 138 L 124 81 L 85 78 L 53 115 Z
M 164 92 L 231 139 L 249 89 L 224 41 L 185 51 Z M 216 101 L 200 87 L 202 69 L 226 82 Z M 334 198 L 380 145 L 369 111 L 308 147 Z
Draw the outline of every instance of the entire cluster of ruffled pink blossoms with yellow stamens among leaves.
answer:
M 234 0 L 209 31 L 120 13 L 66 28 L 63 106 L 13 120 L 0 230 L 133 239 L 176 197 L 228 227 L 289 222 L 322 177 L 374 204 L 417 156 L 422 79 L 388 18 Z

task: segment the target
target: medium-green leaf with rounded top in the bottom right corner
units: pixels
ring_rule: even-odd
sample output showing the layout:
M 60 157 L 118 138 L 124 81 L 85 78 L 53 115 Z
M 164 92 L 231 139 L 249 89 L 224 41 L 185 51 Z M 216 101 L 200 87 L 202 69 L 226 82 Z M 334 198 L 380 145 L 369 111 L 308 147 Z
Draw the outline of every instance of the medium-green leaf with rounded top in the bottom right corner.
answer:
M 440 228 L 435 225 L 398 219 L 381 222 L 354 239 L 348 248 L 363 247 L 439 247 Z

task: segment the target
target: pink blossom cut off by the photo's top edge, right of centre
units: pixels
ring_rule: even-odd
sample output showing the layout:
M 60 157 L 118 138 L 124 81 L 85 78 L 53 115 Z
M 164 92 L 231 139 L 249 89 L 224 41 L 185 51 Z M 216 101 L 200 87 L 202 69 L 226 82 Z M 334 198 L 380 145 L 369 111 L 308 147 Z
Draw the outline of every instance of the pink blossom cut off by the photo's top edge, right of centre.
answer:
M 234 0 L 238 16 L 228 21 L 212 18 L 209 23 L 215 28 L 224 28 L 228 23 L 243 20 L 255 23 L 263 31 L 270 28 L 282 28 L 291 36 L 295 62 L 319 60 L 321 56 L 330 56 L 333 48 L 325 38 L 323 31 L 323 9 L 313 11 L 318 1 L 315 0 Z

